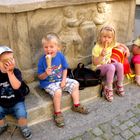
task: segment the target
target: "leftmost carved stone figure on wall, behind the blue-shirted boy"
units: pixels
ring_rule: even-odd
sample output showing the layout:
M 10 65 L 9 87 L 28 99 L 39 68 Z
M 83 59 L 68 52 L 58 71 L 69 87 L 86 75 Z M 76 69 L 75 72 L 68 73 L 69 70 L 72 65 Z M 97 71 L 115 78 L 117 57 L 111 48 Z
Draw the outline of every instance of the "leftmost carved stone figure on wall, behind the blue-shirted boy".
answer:
M 70 58 L 80 58 L 83 49 L 83 41 L 78 33 L 78 27 L 83 19 L 77 19 L 74 15 L 73 7 L 65 7 L 63 9 L 62 28 L 59 37 L 62 40 L 62 51 L 66 55 L 68 61 Z M 70 63 L 70 61 L 69 61 Z

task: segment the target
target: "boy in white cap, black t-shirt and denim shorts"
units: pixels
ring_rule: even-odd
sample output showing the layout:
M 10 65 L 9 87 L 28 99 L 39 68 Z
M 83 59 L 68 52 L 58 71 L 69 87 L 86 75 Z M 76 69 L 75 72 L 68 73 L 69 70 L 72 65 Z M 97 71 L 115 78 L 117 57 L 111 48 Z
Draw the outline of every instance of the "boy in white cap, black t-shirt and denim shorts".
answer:
M 21 72 L 15 68 L 13 50 L 0 46 L 0 134 L 8 127 L 5 115 L 12 114 L 18 121 L 21 134 L 30 139 L 32 133 L 27 127 L 27 112 L 24 103 L 25 84 Z

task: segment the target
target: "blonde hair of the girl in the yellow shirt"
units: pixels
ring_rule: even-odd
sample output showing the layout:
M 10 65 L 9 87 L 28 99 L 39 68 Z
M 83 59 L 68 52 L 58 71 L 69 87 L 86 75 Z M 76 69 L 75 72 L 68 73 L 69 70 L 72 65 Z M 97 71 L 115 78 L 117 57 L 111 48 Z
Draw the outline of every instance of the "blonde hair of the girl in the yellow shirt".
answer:
M 112 32 L 113 40 L 112 40 L 112 43 L 111 44 L 112 45 L 115 45 L 115 43 L 116 43 L 116 32 L 115 32 L 115 29 L 112 26 L 104 26 L 104 27 L 102 27 L 102 29 L 100 30 L 100 32 L 98 34 L 97 42 L 99 44 L 101 44 L 101 36 L 104 33 L 104 31 Z

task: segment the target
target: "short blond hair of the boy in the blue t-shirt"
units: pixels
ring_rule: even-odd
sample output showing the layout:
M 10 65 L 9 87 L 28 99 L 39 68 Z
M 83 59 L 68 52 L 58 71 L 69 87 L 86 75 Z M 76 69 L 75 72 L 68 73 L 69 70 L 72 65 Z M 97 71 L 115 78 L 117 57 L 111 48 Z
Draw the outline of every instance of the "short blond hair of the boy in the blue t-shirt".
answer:
M 46 36 L 44 36 L 42 38 L 42 45 L 44 45 L 44 43 L 46 41 L 52 41 L 54 42 L 56 45 L 60 46 L 60 39 L 58 37 L 58 35 L 56 33 L 48 33 Z

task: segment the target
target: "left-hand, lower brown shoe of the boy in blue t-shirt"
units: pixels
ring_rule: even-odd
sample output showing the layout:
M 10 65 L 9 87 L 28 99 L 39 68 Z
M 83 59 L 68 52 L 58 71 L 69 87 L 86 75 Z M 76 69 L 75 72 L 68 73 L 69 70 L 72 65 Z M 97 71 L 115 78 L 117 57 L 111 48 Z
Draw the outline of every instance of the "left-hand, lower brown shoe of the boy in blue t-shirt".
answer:
M 65 125 L 62 113 L 54 114 L 54 121 L 58 127 L 63 127 Z

